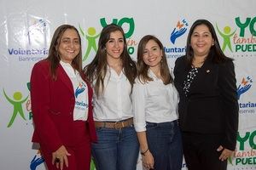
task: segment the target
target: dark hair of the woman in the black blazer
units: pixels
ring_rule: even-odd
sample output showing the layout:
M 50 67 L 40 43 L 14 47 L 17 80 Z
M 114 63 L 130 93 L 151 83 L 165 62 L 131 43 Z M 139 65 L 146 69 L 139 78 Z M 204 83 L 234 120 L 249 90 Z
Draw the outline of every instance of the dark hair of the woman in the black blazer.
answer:
M 210 52 L 207 56 L 207 59 L 211 59 L 214 63 L 223 63 L 226 60 L 233 60 L 229 57 L 225 56 L 223 51 L 221 50 L 218 42 L 218 37 L 216 35 L 216 31 L 214 30 L 214 27 L 212 26 L 212 23 L 208 20 L 195 20 L 193 25 L 190 27 L 189 35 L 187 38 L 187 50 L 186 50 L 186 57 L 188 65 L 190 66 L 192 64 L 192 60 L 194 57 L 193 48 L 191 48 L 190 42 L 191 42 L 191 36 L 196 28 L 196 26 L 205 25 L 209 29 L 212 35 L 212 39 L 214 41 L 214 45 L 210 48 Z

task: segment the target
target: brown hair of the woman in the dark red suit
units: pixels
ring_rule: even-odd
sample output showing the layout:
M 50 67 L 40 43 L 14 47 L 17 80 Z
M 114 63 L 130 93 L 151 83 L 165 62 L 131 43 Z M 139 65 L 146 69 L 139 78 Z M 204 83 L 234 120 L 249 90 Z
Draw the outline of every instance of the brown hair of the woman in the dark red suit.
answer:
M 76 27 L 71 25 L 61 25 L 56 30 L 55 33 L 51 39 L 50 46 L 49 46 L 49 54 L 46 58 L 49 60 L 49 68 L 50 68 L 50 76 L 56 80 L 56 69 L 60 63 L 61 56 L 59 54 L 59 47 L 61 43 L 61 37 L 63 36 L 64 32 L 67 31 L 67 29 L 74 30 L 78 33 L 79 36 L 79 54 L 73 59 L 72 66 L 75 70 L 81 72 L 82 71 L 82 49 L 81 49 L 81 37 L 79 35 L 79 31 L 76 29 Z

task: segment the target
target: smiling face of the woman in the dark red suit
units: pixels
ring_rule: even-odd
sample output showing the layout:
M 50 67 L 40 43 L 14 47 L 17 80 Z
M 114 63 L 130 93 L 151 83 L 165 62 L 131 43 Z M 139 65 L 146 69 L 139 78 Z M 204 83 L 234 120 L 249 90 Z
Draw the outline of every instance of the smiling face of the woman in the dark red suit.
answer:
M 64 63 L 71 64 L 73 59 L 79 54 L 80 42 L 77 31 L 67 29 L 64 31 L 58 48 L 58 53 Z

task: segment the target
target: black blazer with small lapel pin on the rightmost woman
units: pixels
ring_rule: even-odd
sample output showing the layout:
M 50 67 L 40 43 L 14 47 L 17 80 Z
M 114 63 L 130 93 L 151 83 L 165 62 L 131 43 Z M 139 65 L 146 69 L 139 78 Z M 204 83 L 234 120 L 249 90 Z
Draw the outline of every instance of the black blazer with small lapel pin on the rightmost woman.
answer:
M 177 58 L 174 84 L 180 95 L 178 112 L 182 131 L 223 134 L 224 148 L 235 150 L 239 109 L 232 60 L 216 64 L 207 59 L 198 69 L 186 96 L 183 82 L 190 69 L 185 56 Z

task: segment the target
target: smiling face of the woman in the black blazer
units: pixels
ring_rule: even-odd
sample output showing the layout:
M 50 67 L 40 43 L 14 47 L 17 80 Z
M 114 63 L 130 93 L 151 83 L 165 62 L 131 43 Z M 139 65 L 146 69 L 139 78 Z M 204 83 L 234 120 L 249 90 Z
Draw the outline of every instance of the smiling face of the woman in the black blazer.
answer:
M 212 34 L 206 25 L 199 25 L 191 34 L 190 45 L 195 57 L 207 57 L 214 44 Z

